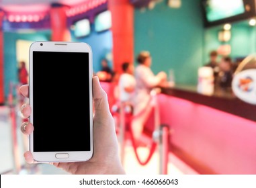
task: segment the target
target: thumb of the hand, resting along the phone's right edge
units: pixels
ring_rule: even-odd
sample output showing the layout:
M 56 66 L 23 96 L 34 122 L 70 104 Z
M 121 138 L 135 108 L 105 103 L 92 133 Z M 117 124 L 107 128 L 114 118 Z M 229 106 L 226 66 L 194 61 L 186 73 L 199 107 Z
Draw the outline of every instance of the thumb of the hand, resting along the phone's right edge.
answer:
M 97 112 L 110 112 L 108 105 L 108 95 L 102 89 L 99 83 L 99 77 L 93 77 L 93 101 L 95 107 L 95 113 Z

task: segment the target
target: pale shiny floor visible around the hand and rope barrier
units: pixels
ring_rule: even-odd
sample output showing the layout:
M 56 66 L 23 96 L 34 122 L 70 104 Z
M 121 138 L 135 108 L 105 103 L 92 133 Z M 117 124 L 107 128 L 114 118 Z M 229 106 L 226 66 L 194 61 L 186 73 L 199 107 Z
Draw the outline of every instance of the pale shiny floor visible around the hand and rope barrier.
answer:
M 17 109 L 18 111 L 18 109 Z M 24 151 L 27 150 L 28 138 L 22 135 L 19 131 L 21 125 L 21 118 L 17 118 L 17 147 L 13 150 L 13 136 L 11 134 L 11 118 L 10 110 L 8 107 L 0 107 L 0 150 L 1 150 L 1 160 L 0 160 L 0 174 L 46 174 L 46 175 L 64 175 L 67 174 L 61 169 L 57 169 L 51 164 L 26 164 L 23 158 Z M 19 116 L 17 116 L 19 117 Z M 14 154 L 16 152 L 16 158 Z M 159 153 L 155 152 L 151 161 L 145 166 L 138 164 L 136 156 L 132 149 L 132 144 L 130 140 L 126 141 L 126 147 L 124 152 L 124 169 L 127 174 L 136 175 L 157 175 L 159 174 Z M 138 153 L 140 156 L 146 156 L 148 154 L 148 148 L 140 147 L 138 148 Z M 185 163 L 183 163 L 175 155 L 169 153 L 169 164 L 168 164 L 168 174 L 181 175 L 181 174 L 196 174 L 196 172 L 189 168 Z M 22 169 L 19 170 L 19 166 Z

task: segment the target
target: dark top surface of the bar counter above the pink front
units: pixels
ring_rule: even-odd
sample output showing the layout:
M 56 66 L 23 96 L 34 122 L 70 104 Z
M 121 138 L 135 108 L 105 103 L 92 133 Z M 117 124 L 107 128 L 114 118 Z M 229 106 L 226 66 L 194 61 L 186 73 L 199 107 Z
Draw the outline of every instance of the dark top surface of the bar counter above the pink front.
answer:
M 162 87 L 161 90 L 163 94 L 206 105 L 256 122 L 256 105 L 241 101 L 232 92 L 218 91 L 208 96 L 197 93 L 196 86 Z

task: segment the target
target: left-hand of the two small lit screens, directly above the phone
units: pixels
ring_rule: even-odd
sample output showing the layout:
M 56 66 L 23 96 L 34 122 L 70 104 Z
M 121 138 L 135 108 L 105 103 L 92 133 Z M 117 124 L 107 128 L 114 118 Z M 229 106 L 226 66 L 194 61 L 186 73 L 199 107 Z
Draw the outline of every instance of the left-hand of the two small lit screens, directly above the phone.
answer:
M 81 19 L 75 22 L 74 26 L 74 34 L 77 38 L 88 36 L 91 32 L 89 19 Z

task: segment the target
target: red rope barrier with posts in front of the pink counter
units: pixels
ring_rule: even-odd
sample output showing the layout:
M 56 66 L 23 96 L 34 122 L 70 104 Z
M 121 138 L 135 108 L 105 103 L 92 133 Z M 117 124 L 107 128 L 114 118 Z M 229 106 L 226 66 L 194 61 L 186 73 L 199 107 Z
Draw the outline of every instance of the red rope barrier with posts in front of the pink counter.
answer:
M 167 169 L 168 169 L 168 156 L 169 156 L 169 126 L 166 125 L 161 125 L 160 126 L 160 118 L 159 118 L 159 106 L 157 103 L 157 93 L 160 93 L 159 89 L 154 89 L 151 91 L 151 99 L 148 101 L 146 104 L 146 108 L 136 115 L 132 115 L 131 111 L 129 113 L 126 113 L 125 109 L 127 107 L 126 102 L 119 103 L 117 105 L 114 105 L 114 110 L 112 111 L 114 117 L 117 118 L 116 115 L 119 115 L 119 120 L 120 120 L 120 143 L 121 143 L 121 160 L 122 163 L 124 161 L 124 136 L 126 132 L 126 125 L 128 125 L 128 130 L 130 134 L 130 138 L 132 140 L 132 148 L 134 150 L 136 159 L 138 160 L 138 163 L 142 166 L 148 164 L 148 162 L 151 160 L 156 148 L 157 148 L 157 143 L 159 144 L 159 174 L 162 175 L 167 175 Z M 153 105 L 152 105 L 153 104 Z M 129 105 L 129 104 L 128 104 Z M 118 107 L 119 106 L 119 107 Z M 136 139 L 134 138 L 134 132 L 132 131 L 132 121 L 136 120 L 136 118 L 140 118 L 140 116 L 144 115 L 146 111 L 148 110 L 148 107 L 152 107 L 154 109 L 154 124 L 155 124 L 155 131 L 153 132 L 153 138 L 151 140 L 151 146 L 149 148 L 149 153 L 148 156 L 144 161 L 140 158 L 140 155 L 138 154 L 138 144 L 136 143 Z M 119 109 L 119 110 L 118 110 Z M 150 109 L 148 113 L 151 115 L 152 109 Z M 118 113 L 119 112 L 119 113 Z M 127 117 L 128 116 L 128 117 Z M 148 119 L 146 117 L 146 119 Z M 146 121 L 145 121 L 146 122 Z M 144 125 L 143 125 L 144 126 Z

